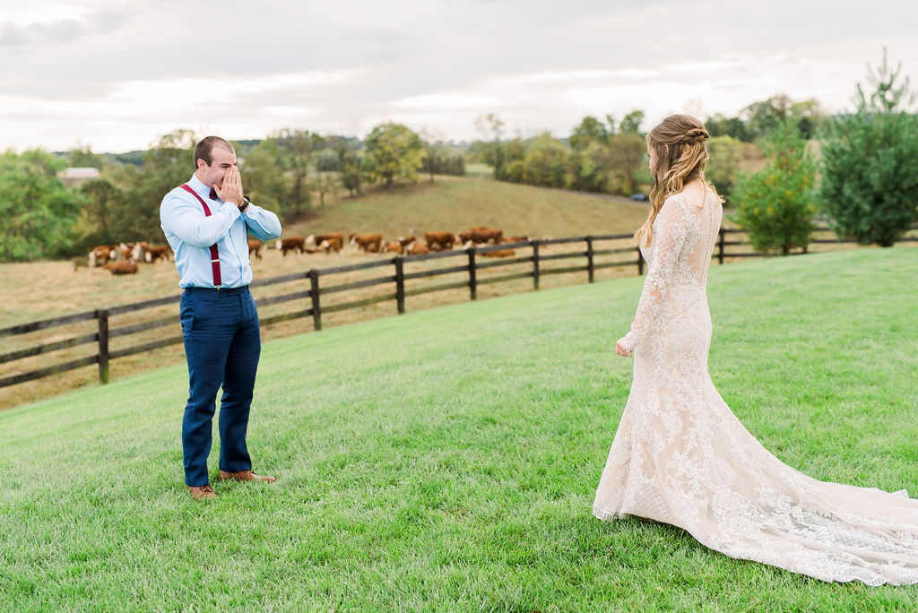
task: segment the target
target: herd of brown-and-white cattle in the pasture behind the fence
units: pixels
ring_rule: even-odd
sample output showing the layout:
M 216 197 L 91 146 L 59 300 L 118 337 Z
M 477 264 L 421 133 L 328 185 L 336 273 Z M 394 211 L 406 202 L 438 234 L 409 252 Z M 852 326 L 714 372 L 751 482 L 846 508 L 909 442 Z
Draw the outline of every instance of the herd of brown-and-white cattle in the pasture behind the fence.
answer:
M 355 251 L 364 251 L 366 253 L 403 253 L 406 255 L 416 255 L 419 253 L 430 253 L 431 251 L 452 250 L 456 248 L 481 247 L 488 244 L 501 244 L 507 242 L 522 242 L 529 240 L 525 236 L 505 237 L 503 232 L 498 228 L 486 228 L 473 226 L 465 232 L 458 234 L 453 232 L 425 232 L 424 242 L 417 240 L 414 236 L 398 237 L 397 240 L 385 241 L 382 234 L 349 234 L 345 237 L 341 232 L 330 234 L 310 234 L 308 237 L 292 236 L 286 239 L 277 240 L 275 247 L 282 251 L 283 255 L 287 251 L 296 253 L 318 253 L 332 252 L 341 255 L 345 245 L 352 247 Z M 249 255 L 262 259 L 261 240 L 249 240 Z M 481 255 L 501 258 L 510 257 L 514 251 L 512 249 L 483 251 Z M 157 260 L 170 262 L 173 259 L 173 252 L 168 245 L 151 245 L 140 242 L 122 242 L 119 245 L 100 245 L 89 252 L 89 267 L 102 267 L 112 274 L 134 274 L 137 273 L 138 262 L 153 263 Z

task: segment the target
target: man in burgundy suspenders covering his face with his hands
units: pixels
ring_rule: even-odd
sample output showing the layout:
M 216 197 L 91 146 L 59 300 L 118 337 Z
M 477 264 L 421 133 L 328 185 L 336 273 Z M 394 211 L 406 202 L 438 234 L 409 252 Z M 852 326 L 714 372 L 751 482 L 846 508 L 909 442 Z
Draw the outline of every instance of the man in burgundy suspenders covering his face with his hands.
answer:
M 252 473 L 245 444 L 262 345 L 249 284 L 248 233 L 281 233 L 277 216 L 242 195 L 236 151 L 208 136 L 195 148 L 195 174 L 162 198 L 162 231 L 175 253 L 182 286 L 180 319 L 188 361 L 188 403 L 182 421 L 185 485 L 196 500 L 216 498 L 207 476 L 211 419 L 220 399 L 219 479 L 265 481 Z

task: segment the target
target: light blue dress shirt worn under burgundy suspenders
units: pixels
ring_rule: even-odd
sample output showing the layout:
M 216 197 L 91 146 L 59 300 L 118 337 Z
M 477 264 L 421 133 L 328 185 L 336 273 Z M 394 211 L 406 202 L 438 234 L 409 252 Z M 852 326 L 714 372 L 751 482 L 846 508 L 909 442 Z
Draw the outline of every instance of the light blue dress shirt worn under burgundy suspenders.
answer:
M 250 204 L 245 213 L 239 206 L 210 199 L 210 186 L 192 175 L 188 186 L 207 203 L 210 217 L 197 198 L 176 187 L 162 198 L 160 224 L 175 253 L 175 266 L 185 287 L 213 287 L 214 272 L 210 266 L 210 246 L 217 243 L 220 257 L 220 282 L 223 287 L 241 287 L 252 283 L 249 261 L 251 232 L 259 240 L 281 235 L 281 222 L 274 213 Z

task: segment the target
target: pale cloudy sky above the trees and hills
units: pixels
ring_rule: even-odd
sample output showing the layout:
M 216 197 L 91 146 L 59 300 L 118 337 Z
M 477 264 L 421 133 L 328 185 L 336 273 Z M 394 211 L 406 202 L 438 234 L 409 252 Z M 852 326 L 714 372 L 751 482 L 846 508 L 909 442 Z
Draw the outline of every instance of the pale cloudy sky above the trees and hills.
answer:
M 32 6 L 30 6 L 32 5 Z M 777 93 L 851 107 L 882 48 L 918 85 L 918 2 L 0 0 L 0 150 L 146 149 L 175 128 L 476 139 Z

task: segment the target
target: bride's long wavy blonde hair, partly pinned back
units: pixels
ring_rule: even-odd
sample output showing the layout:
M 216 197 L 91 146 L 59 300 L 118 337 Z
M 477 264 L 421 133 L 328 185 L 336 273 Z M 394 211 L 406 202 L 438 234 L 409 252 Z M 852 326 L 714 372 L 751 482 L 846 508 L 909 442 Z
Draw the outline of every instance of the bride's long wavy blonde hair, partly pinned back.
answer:
M 654 189 L 650 193 L 650 214 L 641 228 L 634 232 L 634 241 L 647 246 L 654 236 L 654 219 L 670 195 L 694 179 L 704 179 L 704 167 L 710 155 L 704 141 L 711 135 L 699 119 L 690 115 L 671 115 L 647 132 L 647 147 L 654 150 L 656 162 L 650 173 Z M 705 183 L 714 190 L 713 185 Z M 714 190 L 716 194 L 716 190 Z

